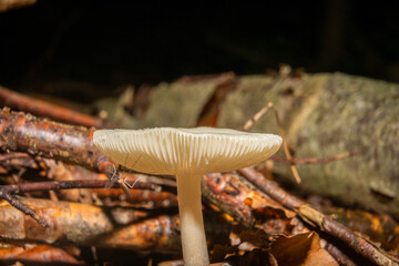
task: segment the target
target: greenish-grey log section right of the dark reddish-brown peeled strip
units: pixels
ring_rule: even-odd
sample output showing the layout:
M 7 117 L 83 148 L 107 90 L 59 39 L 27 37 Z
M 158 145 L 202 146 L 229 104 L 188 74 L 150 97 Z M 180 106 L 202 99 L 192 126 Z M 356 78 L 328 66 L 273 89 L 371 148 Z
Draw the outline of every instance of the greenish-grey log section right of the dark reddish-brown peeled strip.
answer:
M 218 126 L 242 126 L 268 101 L 279 111 L 296 157 L 355 153 L 328 164 L 298 165 L 298 188 L 399 217 L 398 84 L 340 73 L 305 75 L 297 82 L 243 78 L 223 104 Z M 269 114 L 253 130 L 276 127 Z M 284 182 L 294 182 L 287 164 L 275 164 L 275 170 Z

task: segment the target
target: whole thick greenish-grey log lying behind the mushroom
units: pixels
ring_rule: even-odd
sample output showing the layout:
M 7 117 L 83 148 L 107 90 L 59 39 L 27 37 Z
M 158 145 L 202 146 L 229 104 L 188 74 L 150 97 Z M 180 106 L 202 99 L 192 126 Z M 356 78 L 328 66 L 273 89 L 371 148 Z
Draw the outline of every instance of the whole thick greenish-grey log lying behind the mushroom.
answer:
M 219 96 L 226 83 L 233 89 Z M 211 106 L 216 126 L 242 129 L 273 102 L 295 157 L 354 153 L 328 164 L 298 165 L 301 184 L 295 184 L 288 164 L 275 163 L 277 181 L 399 218 L 398 84 L 342 73 L 224 74 L 162 83 L 149 101 L 144 115 L 119 126 L 195 126 Z M 278 133 L 274 114 L 266 113 L 250 131 Z

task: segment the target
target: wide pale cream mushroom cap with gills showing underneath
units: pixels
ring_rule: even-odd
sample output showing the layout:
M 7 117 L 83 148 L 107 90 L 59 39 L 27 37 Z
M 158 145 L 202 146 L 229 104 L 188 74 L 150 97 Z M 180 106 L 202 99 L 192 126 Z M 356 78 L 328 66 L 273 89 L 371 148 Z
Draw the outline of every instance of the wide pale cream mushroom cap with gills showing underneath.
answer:
M 278 135 L 214 127 L 101 130 L 93 141 L 117 164 L 164 175 L 247 167 L 267 160 L 283 142 Z

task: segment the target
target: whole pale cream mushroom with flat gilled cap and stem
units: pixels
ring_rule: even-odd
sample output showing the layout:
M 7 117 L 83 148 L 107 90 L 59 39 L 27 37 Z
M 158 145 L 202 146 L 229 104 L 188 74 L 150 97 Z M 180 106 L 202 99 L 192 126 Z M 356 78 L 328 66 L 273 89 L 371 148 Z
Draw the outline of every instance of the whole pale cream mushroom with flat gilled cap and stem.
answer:
M 201 176 L 265 161 L 282 145 L 273 134 L 228 129 L 99 130 L 96 147 L 115 163 L 137 172 L 174 175 L 185 265 L 208 265 L 201 204 Z

